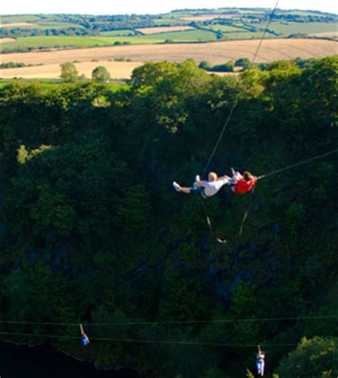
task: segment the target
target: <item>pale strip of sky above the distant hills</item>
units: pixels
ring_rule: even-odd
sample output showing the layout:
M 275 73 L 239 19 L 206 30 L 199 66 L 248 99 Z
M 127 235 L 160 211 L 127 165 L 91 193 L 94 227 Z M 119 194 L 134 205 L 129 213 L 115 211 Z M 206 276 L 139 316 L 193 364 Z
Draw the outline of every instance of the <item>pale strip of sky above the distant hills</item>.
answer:
M 175 9 L 274 8 L 276 0 L 11 0 L 0 14 L 161 14 Z M 279 9 L 309 9 L 337 14 L 337 0 L 279 0 Z

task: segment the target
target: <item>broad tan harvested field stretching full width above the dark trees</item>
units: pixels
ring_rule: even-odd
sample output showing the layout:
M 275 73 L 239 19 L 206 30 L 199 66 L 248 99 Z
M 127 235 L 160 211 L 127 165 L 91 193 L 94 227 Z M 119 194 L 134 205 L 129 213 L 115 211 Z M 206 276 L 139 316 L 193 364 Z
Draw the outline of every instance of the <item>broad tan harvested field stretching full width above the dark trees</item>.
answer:
M 81 48 L 60 51 L 35 51 L 8 53 L 1 56 L 3 63 L 60 64 L 72 61 L 99 61 L 128 58 L 134 62 L 184 61 L 192 58 L 196 63 L 208 61 L 212 65 L 250 58 L 255 54 L 260 41 L 220 41 L 212 43 L 168 43 L 160 45 L 111 46 Z M 319 58 L 337 54 L 337 42 L 320 39 L 267 39 L 263 41 L 256 62 L 271 62 L 277 59 Z M 36 67 L 36 70 L 39 70 Z

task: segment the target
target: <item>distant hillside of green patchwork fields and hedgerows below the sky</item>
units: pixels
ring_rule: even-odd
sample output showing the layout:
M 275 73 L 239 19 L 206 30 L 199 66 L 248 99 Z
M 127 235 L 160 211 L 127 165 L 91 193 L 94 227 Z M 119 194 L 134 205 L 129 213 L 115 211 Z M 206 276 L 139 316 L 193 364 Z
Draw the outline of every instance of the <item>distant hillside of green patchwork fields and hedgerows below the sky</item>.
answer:
M 270 9 L 186 9 L 157 15 L 34 14 L 2 16 L 0 37 L 19 38 L 6 43 L 2 52 L 30 51 L 34 46 L 21 38 L 34 36 L 87 36 L 114 38 L 116 44 L 207 42 L 260 38 Z M 277 10 L 265 38 L 292 37 L 337 39 L 336 16 L 320 11 Z M 312 37 L 313 38 L 313 37 Z M 76 46 L 86 46 L 87 40 Z M 107 46 L 100 39 L 94 46 Z M 93 41 L 88 40 L 88 46 Z

